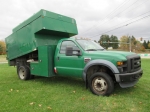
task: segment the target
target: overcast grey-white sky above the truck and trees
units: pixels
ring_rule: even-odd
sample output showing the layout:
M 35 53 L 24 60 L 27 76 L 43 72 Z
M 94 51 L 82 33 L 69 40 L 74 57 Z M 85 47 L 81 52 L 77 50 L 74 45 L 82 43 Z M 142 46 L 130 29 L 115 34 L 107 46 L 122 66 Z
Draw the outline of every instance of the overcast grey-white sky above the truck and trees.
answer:
M 1 0 L 0 40 L 40 9 L 74 18 L 79 37 L 99 40 L 101 34 L 108 34 L 150 39 L 150 0 Z

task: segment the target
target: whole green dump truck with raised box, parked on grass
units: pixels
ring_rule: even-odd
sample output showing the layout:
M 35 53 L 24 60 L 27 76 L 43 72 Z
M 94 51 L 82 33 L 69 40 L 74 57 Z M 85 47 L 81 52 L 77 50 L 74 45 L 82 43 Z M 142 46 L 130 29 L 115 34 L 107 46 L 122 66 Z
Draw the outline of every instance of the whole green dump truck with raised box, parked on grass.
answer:
M 76 34 L 75 19 L 40 10 L 5 39 L 9 65 L 16 66 L 21 80 L 82 78 L 96 95 L 110 95 L 114 83 L 122 88 L 137 83 L 143 73 L 139 55 L 106 51 L 92 40 L 69 38 Z

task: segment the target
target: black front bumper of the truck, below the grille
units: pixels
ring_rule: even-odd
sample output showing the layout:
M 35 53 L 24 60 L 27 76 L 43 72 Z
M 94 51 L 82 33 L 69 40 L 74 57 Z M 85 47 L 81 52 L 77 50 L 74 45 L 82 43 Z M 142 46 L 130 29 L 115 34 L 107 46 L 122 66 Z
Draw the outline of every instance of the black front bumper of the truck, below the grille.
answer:
M 138 70 L 132 73 L 115 74 L 116 81 L 119 82 L 122 88 L 134 86 L 139 78 L 142 77 L 143 70 Z

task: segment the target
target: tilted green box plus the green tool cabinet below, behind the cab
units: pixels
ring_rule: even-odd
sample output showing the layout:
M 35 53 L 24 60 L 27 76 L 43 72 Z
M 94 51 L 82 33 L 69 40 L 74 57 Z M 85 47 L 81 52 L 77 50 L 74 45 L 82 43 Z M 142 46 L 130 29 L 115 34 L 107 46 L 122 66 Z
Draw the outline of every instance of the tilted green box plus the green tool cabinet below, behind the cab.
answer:
M 75 19 L 40 10 L 15 27 L 5 39 L 9 65 L 17 66 L 17 70 L 25 65 L 26 69 L 31 68 L 31 74 L 53 76 L 58 40 L 77 33 Z

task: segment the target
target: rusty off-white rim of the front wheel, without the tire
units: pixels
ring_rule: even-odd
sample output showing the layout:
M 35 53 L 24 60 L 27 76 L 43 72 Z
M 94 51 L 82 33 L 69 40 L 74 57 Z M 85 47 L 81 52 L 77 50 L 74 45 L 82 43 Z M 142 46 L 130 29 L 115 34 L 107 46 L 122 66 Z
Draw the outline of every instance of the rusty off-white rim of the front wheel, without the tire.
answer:
M 95 77 L 92 81 L 93 89 L 99 94 L 104 94 L 107 91 L 107 82 L 102 77 Z

